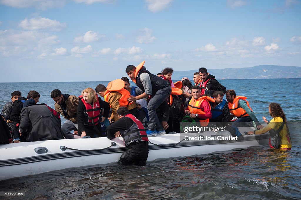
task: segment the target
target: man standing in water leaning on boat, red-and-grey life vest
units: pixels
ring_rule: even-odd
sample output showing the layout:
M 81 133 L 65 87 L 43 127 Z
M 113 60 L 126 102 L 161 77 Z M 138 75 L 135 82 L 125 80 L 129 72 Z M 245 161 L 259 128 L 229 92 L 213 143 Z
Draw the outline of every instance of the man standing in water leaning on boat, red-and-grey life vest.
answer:
M 126 107 L 117 110 L 118 120 L 107 127 L 107 138 L 120 132 L 127 150 L 118 161 L 120 165 L 145 165 L 148 157 L 148 138 L 143 124 Z

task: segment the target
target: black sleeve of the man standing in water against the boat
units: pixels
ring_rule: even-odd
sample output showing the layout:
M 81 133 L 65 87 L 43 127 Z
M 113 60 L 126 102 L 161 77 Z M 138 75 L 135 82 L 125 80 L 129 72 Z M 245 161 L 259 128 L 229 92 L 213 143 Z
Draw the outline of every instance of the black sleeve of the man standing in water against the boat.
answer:
M 134 121 L 128 117 L 123 117 L 107 127 L 107 138 L 113 139 L 115 133 L 120 130 L 127 130 L 134 124 Z

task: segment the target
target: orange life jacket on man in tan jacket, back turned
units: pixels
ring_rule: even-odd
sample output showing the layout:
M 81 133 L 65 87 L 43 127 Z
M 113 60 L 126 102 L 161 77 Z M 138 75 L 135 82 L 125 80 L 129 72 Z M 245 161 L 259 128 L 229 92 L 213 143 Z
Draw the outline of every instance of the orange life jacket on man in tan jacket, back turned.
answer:
M 116 80 L 109 82 L 109 84 L 107 86 L 107 90 L 104 93 L 104 100 L 108 103 L 109 103 L 108 97 L 112 91 L 116 91 L 122 95 L 121 98 L 118 100 L 120 107 L 127 107 L 134 103 L 134 102 L 129 103 L 127 100 L 131 94 L 129 93 L 129 91 L 124 89 L 124 81 L 123 80 L 116 79 Z M 110 104 L 110 107 L 112 107 L 111 104 Z

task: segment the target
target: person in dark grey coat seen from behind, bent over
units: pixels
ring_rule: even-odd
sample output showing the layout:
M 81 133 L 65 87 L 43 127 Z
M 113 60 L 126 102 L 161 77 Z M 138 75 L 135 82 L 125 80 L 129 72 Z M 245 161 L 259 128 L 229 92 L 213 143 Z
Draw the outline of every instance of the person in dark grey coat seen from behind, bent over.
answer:
M 64 139 L 60 122 L 48 106 L 30 104 L 21 112 L 20 133 L 27 132 L 26 142 Z

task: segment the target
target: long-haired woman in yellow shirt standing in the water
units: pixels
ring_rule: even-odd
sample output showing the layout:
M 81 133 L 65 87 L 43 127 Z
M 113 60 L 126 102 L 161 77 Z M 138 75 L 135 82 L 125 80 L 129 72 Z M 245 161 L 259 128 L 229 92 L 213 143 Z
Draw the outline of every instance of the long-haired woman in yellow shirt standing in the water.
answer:
M 273 118 L 270 122 L 268 122 L 268 120 L 265 117 L 262 117 L 262 119 L 268 125 L 263 129 L 256 130 L 253 132 L 252 131 L 248 132 L 248 134 L 259 135 L 270 131 L 271 136 L 275 135 L 273 140 L 274 145 L 271 145 L 271 141 L 270 141 L 271 148 L 291 150 L 292 142 L 290 139 L 290 132 L 288 130 L 287 120 L 281 106 L 278 103 L 270 103 L 270 105 L 268 106 L 268 112 Z

